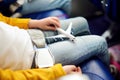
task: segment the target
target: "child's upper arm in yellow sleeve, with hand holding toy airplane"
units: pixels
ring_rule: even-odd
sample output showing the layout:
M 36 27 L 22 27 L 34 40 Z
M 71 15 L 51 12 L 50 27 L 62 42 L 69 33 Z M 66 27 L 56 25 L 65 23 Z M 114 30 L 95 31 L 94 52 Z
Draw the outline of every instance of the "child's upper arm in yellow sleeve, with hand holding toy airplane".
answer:
M 59 19 L 56 17 L 49 17 L 41 20 L 33 20 L 27 18 L 10 18 L 0 14 L 0 21 L 23 29 L 39 28 L 42 30 L 56 30 L 56 27 L 60 27 Z

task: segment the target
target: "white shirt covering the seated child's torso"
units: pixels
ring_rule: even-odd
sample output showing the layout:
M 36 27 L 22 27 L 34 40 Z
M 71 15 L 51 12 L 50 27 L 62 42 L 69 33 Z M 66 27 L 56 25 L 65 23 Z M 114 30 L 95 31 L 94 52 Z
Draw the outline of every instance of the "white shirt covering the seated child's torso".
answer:
M 31 68 L 35 52 L 27 31 L 0 22 L 0 36 L 0 68 Z

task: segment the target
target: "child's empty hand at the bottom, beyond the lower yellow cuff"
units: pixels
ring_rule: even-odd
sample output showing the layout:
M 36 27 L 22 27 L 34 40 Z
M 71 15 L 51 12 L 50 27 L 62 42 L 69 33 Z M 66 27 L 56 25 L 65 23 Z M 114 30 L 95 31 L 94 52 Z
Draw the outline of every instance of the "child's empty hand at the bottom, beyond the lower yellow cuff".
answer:
M 66 65 L 63 66 L 63 69 L 65 70 L 66 74 L 78 72 L 82 74 L 80 67 L 76 67 L 75 65 Z

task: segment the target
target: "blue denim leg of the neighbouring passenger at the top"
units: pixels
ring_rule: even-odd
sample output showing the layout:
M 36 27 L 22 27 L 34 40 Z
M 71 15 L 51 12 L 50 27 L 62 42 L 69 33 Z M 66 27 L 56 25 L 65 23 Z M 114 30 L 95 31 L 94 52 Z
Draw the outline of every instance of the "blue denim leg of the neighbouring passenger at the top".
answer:
M 70 14 L 71 6 L 71 0 L 32 0 L 31 2 L 25 2 L 22 6 L 22 10 L 19 12 L 25 15 L 52 9 L 63 9 L 66 13 Z

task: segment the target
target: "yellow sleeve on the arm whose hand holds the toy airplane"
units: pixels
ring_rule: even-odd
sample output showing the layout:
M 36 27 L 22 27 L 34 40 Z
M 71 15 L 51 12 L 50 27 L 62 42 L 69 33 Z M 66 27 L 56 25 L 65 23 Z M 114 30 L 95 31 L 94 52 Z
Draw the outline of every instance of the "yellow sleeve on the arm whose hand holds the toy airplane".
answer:
M 29 23 L 30 19 L 10 18 L 10 17 L 3 16 L 0 13 L 0 21 L 3 21 L 3 22 L 10 24 L 12 26 L 17 26 L 19 28 L 28 29 L 28 23 Z

